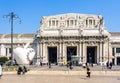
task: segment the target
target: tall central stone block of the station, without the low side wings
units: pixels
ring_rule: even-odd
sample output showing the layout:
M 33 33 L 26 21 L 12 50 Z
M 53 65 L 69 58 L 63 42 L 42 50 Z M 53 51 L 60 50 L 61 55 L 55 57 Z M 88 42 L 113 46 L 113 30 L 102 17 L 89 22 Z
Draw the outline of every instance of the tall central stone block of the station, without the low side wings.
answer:
M 38 57 L 45 63 L 66 62 L 72 56 L 78 57 L 79 63 L 112 61 L 110 33 L 101 15 L 69 13 L 44 16 L 36 38 Z M 52 55 L 52 47 L 56 54 Z M 57 60 L 50 59 L 52 56 Z

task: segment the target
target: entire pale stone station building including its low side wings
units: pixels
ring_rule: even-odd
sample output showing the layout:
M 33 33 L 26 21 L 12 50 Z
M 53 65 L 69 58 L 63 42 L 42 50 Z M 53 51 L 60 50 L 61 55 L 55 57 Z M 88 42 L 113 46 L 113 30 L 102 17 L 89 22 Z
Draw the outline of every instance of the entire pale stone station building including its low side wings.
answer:
M 10 39 L 10 34 L 0 35 L 1 56 L 10 56 Z M 59 64 L 78 59 L 79 63 L 120 64 L 120 33 L 108 32 L 101 15 L 43 16 L 36 34 L 14 34 L 13 39 L 14 48 L 30 42 L 37 62 Z

